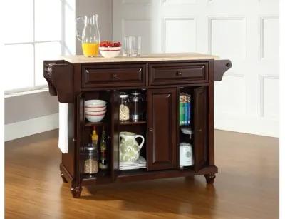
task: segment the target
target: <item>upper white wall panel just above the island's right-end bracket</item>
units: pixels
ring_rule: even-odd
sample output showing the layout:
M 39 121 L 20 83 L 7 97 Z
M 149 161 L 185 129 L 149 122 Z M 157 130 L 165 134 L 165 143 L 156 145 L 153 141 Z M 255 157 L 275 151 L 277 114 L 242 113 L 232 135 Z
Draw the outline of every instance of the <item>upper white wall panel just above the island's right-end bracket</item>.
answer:
M 224 58 L 246 58 L 246 20 L 244 18 L 209 17 L 208 51 Z

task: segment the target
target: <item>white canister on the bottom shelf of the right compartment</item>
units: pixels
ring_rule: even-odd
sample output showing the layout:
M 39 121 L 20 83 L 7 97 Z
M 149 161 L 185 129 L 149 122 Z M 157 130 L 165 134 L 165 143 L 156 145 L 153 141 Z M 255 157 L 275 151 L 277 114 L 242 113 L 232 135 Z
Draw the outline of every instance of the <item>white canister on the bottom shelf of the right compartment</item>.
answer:
M 192 145 L 190 143 L 182 142 L 179 145 L 180 151 L 180 168 L 194 165 L 194 156 Z

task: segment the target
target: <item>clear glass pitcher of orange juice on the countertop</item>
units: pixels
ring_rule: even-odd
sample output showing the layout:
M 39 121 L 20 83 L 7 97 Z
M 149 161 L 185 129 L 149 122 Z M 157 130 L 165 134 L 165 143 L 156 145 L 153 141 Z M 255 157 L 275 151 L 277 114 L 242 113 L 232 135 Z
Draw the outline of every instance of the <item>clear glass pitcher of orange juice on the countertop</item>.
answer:
M 80 31 L 78 31 L 79 21 L 84 24 L 82 34 L 80 34 Z M 76 18 L 76 36 L 78 40 L 81 41 L 84 56 L 98 56 L 100 44 L 98 14 L 91 16 L 80 16 Z

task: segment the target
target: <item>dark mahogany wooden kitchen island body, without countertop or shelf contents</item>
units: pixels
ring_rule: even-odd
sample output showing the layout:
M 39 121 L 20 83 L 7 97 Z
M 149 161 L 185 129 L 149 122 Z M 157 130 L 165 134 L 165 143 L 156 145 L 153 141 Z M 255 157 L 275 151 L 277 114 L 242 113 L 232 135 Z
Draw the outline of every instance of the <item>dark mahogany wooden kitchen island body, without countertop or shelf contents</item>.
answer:
M 63 182 L 71 186 L 74 198 L 80 197 L 82 186 L 112 183 L 115 180 L 133 181 L 150 180 L 157 178 L 172 178 L 188 175 L 204 175 L 207 183 L 213 183 L 217 167 L 214 165 L 214 81 L 221 81 L 225 71 L 232 67 L 229 60 L 185 60 L 185 61 L 130 61 L 120 63 L 68 63 L 67 61 L 44 61 L 44 77 L 48 81 L 51 95 L 57 95 L 58 101 L 68 103 L 68 153 L 62 154 L 60 164 Z M 180 69 L 181 68 L 181 69 Z M 92 71 L 88 71 L 88 70 Z M 99 69 L 97 71 L 96 69 Z M 104 69 L 104 83 L 87 81 L 86 74 L 100 72 Z M 118 69 L 128 73 L 117 75 Z M 154 80 L 154 72 L 160 69 L 160 81 Z M 163 73 L 165 72 L 165 75 Z M 131 81 L 128 74 L 139 74 L 137 81 Z M 110 75 L 110 81 L 108 81 Z M 115 76 L 114 76 L 115 75 Z M 123 76 L 125 78 L 119 78 Z M 133 76 L 133 75 L 131 75 Z M 89 77 L 89 76 L 88 76 Z M 165 78 L 166 77 L 166 78 Z M 106 79 L 107 78 L 107 79 Z M 133 78 L 136 78 L 134 76 Z M 164 79 L 165 78 L 165 79 Z M 146 89 L 147 93 L 147 121 L 140 126 L 146 126 L 146 157 L 147 170 L 122 172 L 118 168 L 118 93 L 120 89 Z M 180 169 L 179 165 L 179 113 L 178 100 L 180 89 L 189 88 L 193 92 L 194 115 L 194 153 L 195 165 L 193 168 Z M 84 115 L 84 96 L 88 92 L 110 93 L 110 159 L 109 174 L 96 175 L 93 178 L 84 178 L 81 175 L 81 143 L 86 126 Z M 152 98 L 161 97 L 159 104 L 153 103 Z M 157 99 L 157 100 L 160 100 Z M 166 118 L 164 131 L 165 139 L 160 136 L 156 143 L 164 143 L 169 148 L 160 154 L 162 145 L 154 145 L 155 116 L 162 111 L 160 121 Z M 198 113 L 199 112 L 199 113 Z M 101 123 L 97 123 L 101 126 Z M 131 126 L 129 123 L 127 126 Z M 172 136 L 171 136 L 172 134 Z M 168 142 L 170 141 L 170 142 Z M 168 158 L 168 160 L 167 160 Z

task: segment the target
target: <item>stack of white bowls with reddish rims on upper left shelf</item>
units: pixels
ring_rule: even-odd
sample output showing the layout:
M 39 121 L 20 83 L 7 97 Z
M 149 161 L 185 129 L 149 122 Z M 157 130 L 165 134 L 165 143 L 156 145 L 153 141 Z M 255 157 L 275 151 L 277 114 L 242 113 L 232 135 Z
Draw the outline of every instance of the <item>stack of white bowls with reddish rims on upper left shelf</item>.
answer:
M 85 116 L 88 121 L 97 123 L 102 121 L 107 111 L 106 101 L 88 100 L 85 101 Z

